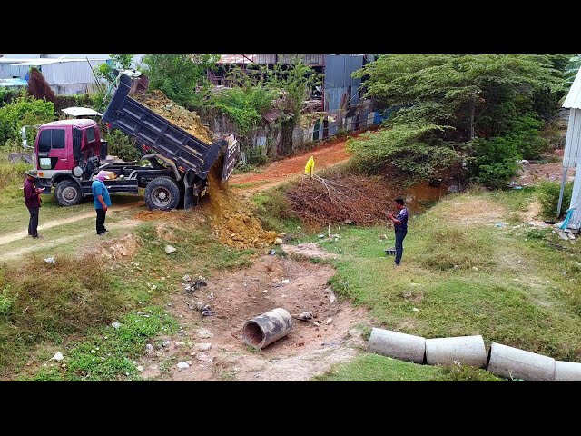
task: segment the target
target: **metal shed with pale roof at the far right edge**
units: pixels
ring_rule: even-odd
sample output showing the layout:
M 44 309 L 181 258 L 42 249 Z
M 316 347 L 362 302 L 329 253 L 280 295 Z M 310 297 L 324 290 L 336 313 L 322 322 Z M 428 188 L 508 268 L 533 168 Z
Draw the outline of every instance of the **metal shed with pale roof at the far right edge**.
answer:
M 573 194 L 569 208 L 575 208 L 571 215 L 568 229 L 578 231 L 581 228 L 581 70 L 577 72 L 575 81 L 566 94 L 563 107 L 570 109 L 569 124 L 566 130 L 565 153 L 563 154 L 563 183 L 561 195 L 566 182 L 566 172 L 569 168 L 576 168 Z M 561 200 L 559 198 L 559 205 Z

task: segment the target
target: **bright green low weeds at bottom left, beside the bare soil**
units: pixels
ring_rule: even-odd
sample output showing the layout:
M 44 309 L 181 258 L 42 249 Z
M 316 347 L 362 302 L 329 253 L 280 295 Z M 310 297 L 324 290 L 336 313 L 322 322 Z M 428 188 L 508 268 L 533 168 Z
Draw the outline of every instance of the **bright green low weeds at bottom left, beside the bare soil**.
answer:
M 141 380 L 133 363 L 143 355 L 148 339 L 178 331 L 178 322 L 162 307 L 144 307 L 124 315 L 119 329 L 102 326 L 87 332 L 83 341 L 63 351 L 61 362 L 49 361 L 21 381 L 135 381 Z M 60 348 L 59 348 L 60 350 Z M 50 353 L 44 355 L 50 359 Z M 64 365 L 64 366 L 63 366 Z

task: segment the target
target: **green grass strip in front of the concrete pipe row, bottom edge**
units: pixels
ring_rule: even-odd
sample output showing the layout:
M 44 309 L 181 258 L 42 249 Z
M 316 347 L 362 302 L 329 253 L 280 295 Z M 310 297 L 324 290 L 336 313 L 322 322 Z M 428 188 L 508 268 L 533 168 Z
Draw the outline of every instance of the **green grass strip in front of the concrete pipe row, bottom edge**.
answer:
M 335 365 L 314 381 L 501 381 L 470 366 L 430 366 L 403 362 L 378 354 L 364 354 L 349 363 Z

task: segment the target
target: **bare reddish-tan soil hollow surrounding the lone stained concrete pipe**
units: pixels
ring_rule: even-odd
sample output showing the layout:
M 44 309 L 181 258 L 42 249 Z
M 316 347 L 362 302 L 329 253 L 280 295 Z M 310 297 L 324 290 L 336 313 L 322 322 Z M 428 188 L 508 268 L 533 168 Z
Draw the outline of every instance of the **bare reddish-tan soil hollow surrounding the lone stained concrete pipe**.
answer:
M 367 322 L 367 311 L 335 298 L 327 285 L 333 274 L 330 265 L 262 256 L 251 268 L 227 272 L 192 293 L 181 287 L 172 295 L 168 311 L 179 319 L 182 330 L 153 342 L 153 351 L 141 362 L 143 377 L 304 381 L 350 360 L 364 344 L 354 326 Z M 196 304 L 209 305 L 214 316 L 202 319 Z M 242 341 L 242 324 L 277 307 L 293 315 L 311 312 L 313 319 L 293 319 L 287 336 L 261 351 L 251 349 Z M 164 341 L 169 341 L 166 346 Z M 191 365 L 179 370 L 178 362 Z

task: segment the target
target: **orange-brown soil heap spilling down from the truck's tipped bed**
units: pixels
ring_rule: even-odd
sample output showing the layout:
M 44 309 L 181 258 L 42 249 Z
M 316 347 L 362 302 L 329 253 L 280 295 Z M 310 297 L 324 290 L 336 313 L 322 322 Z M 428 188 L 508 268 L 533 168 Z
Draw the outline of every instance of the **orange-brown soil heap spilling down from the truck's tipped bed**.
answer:
M 261 222 L 250 212 L 251 205 L 222 185 L 222 159 L 208 173 L 209 197 L 203 204 L 214 235 L 233 248 L 261 248 L 274 243 L 276 232 L 262 229 Z M 205 198 L 205 197 L 204 197 Z

